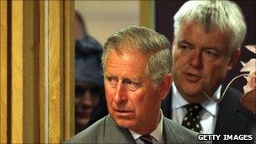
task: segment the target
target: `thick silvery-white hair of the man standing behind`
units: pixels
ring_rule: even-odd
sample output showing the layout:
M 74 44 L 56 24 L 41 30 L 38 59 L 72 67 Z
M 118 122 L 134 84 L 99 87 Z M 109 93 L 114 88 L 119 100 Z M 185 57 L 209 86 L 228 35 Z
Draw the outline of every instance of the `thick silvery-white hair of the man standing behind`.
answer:
M 227 0 L 188 1 L 174 15 L 174 35 L 184 20 L 199 22 L 207 32 L 211 28 L 229 34 L 230 53 L 240 48 L 246 35 L 246 24 L 241 8 Z

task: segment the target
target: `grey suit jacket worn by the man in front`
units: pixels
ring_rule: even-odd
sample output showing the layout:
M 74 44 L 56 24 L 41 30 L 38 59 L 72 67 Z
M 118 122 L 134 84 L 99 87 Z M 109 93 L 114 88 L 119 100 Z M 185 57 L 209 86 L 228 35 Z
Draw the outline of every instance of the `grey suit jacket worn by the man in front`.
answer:
M 203 143 L 197 140 L 195 131 L 177 125 L 165 117 L 163 117 L 163 137 L 164 143 Z M 136 143 L 136 141 L 130 131 L 120 128 L 111 116 L 107 115 L 65 143 Z

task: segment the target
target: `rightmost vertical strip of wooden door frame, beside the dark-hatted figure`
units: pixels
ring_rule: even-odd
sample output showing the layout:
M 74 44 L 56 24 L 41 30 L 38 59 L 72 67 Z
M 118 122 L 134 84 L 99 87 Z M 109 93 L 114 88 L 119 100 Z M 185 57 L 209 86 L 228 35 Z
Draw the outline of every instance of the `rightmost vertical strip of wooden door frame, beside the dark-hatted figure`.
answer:
M 75 50 L 74 50 L 74 1 L 64 2 L 64 140 L 74 135 L 74 70 L 75 70 Z

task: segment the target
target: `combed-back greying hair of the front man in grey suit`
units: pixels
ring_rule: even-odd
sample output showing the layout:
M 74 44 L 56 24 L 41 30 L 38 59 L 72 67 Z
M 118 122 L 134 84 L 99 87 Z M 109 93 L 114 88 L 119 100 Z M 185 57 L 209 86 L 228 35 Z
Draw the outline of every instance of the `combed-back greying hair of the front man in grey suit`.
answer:
M 125 45 L 125 46 L 121 46 Z M 163 81 L 163 76 L 170 73 L 172 58 L 170 53 L 170 42 L 163 36 L 141 26 L 129 26 L 126 29 L 121 29 L 110 35 L 104 44 L 102 55 L 102 65 L 105 67 L 105 62 L 109 50 L 115 50 L 122 55 L 124 51 L 138 50 L 142 55 L 147 57 L 147 74 L 151 77 L 154 87 Z

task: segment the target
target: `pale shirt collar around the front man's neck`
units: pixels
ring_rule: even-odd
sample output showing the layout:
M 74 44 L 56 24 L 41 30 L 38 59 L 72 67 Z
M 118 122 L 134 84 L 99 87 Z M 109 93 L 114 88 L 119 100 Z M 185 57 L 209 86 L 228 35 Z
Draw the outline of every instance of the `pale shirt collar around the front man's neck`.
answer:
M 161 114 L 160 114 L 161 119 L 157 125 L 157 128 L 154 131 L 152 131 L 152 133 L 150 133 L 150 136 L 154 137 L 154 139 L 161 142 L 161 141 L 163 141 L 163 112 L 161 109 L 160 109 L 160 112 L 161 112 Z M 136 140 L 136 139 L 140 138 L 140 136 L 142 136 L 141 134 L 138 134 L 135 131 L 131 131 L 130 129 L 129 129 L 129 131 L 131 132 L 131 135 L 134 138 L 134 140 Z

